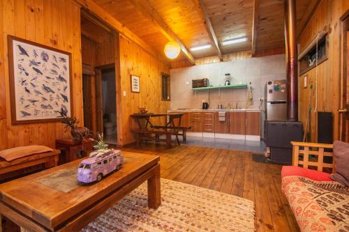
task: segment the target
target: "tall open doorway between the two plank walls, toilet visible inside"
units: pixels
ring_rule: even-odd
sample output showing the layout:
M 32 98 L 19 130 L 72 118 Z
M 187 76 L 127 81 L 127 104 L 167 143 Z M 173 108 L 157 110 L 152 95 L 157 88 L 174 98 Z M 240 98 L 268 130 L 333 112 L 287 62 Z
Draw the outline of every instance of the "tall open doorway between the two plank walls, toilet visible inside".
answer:
M 117 144 L 115 33 L 109 26 L 81 11 L 82 95 L 84 126 Z

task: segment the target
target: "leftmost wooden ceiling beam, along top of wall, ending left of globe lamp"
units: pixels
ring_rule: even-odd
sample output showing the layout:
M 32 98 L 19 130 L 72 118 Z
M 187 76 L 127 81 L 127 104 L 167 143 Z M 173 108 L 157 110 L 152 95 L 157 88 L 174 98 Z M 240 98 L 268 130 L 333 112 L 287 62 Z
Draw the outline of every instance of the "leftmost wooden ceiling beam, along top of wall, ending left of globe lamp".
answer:
M 121 33 L 129 40 L 135 42 L 135 44 L 142 47 L 144 50 L 155 56 L 160 60 L 164 60 L 163 56 L 160 56 L 158 52 L 156 52 L 152 47 L 150 47 L 146 42 L 144 42 L 141 38 L 139 38 L 135 33 L 126 28 L 121 22 L 116 20 L 112 15 L 107 13 L 101 6 L 98 6 L 94 0 L 74 0 L 79 6 L 87 10 L 92 15 L 96 16 L 102 22 L 108 24 L 112 29 Z

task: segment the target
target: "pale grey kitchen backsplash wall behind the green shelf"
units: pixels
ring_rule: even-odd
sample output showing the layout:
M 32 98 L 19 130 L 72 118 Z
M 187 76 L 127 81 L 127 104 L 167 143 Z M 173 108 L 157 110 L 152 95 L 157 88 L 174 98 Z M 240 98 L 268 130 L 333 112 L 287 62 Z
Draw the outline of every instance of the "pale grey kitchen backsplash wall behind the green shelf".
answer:
M 248 84 L 253 89 L 253 105 L 248 109 L 259 109 L 260 98 L 264 98 L 265 83 L 269 80 L 285 79 L 285 55 L 263 56 L 239 61 L 211 63 L 188 68 L 170 70 L 171 109 L 201 109 L 202 102 L 210 102 L 210 109 L 217 105 L 246 108 L 246 88 L 192 91 L 191 80 L 208 78 L 211 85 L 223 85 L 225 73 L 232 75 L 232 84 Z M 220 92 L 220 93 L 219 93 Z M 262 105 L 264 107 L 264 104 Z

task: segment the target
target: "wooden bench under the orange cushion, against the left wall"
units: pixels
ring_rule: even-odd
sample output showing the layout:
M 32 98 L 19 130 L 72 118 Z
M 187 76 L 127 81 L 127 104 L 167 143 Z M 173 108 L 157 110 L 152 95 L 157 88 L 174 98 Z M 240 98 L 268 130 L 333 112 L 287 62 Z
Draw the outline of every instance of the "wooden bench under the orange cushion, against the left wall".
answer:
M 17 160 L 7 162 L 6 160 L 0 161 L 0 175 L 6 175 L 11 171 L 17 171 L 20 169 L 26 169 L 28 167 L 33 167 L 37 164 L 44 164 L 46 169 L 51 167 L 56 167 L 58 164 L 59 150 L 53 150 L 47 153 L 38 153 L 35 155 L 29 155 L 27 157 L 22 157 Z

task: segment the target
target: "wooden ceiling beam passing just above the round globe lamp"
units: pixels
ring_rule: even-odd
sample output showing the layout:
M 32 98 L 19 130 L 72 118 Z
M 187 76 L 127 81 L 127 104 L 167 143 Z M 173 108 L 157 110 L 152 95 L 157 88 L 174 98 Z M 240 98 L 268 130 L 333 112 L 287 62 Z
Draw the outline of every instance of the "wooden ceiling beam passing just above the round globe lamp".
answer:
M 181 52 L 183 52 L 184 56 L 186 56 L 186 59 L 188 59 L 189 62 L 195 64 L 195 58 L 194 56 L 188 52 L 188 49 L 186 49 L 186 46 L 179 40 L 179 38 L 174 34 L 174 32 L 168 27 L 168 25 L 163 21 L 160 15 L 156 12 L 156 10 L 150 6 L 146 1 L 142 0 L 129 0 L 135 8 L 137 8 L 142 15 L 145 17 L 148 17 L 151 22 L 153 22 L 158 29 L 160 29 L 161 33 L 168 38 L 170 41 L 176 41 L 179 46 L 181 47 Z

